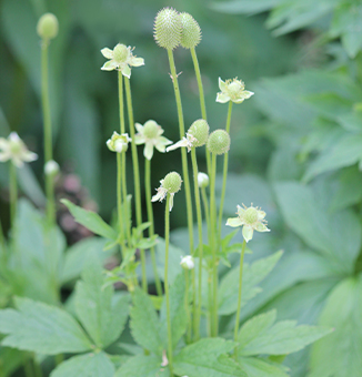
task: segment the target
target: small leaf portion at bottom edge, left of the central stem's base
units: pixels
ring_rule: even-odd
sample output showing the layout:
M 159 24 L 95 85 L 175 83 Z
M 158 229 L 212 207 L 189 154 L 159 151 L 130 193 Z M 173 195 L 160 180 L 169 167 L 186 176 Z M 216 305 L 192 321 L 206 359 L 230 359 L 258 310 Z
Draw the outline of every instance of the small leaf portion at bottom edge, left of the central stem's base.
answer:
M 160 357 L 138 355 L 131 357 L 117 371 L 114 377 L 169 377 L 169 368 L 161 366 Z

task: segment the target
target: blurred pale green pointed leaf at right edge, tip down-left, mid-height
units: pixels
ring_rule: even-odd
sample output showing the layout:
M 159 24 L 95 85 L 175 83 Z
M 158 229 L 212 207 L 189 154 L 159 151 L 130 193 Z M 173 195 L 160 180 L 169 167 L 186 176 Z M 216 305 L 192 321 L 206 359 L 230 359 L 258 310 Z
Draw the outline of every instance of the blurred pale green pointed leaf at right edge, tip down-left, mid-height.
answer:
M 362 160 L 361 150 L 362 134 L 345 134 L 312 162 L 303 180 L 308 182 L 321 173 L 354 165 Z

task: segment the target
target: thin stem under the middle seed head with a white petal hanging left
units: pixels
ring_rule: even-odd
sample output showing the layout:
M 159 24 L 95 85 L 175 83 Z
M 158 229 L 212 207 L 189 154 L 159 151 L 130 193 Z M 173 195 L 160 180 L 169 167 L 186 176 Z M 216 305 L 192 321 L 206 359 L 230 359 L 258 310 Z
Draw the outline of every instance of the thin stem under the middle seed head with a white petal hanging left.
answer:
M 195 333 L 194 340 L 200 338 L 200 319 L 201 319 L 201 302 L 202 302 L 202 258 L 203 258 L 203 240 L 202 240 L 202 212 L 201 212 L 201 200 L 200 200 L 200 188 L 198 181 L 198 161 L 195 147 L 191 149 L 191 161 L 193 170 L 193 191 L 194 200 L 197 204 L 197 218 L 198 218 L 198 232 L 199 232 L 199 282 L 198 282 L 198 307 L 195 313 Z

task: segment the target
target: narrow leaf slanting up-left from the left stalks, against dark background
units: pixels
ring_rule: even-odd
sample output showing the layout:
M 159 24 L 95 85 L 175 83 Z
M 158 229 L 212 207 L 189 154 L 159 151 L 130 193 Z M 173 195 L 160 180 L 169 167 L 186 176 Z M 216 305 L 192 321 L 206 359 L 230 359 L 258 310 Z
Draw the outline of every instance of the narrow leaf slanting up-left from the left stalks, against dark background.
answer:
M 95 212 L 83 210 L 66 198 L 61 200 L 61 203 L 68 207 L 77 223 L 104 238 L 117 240 L 115 231 Z

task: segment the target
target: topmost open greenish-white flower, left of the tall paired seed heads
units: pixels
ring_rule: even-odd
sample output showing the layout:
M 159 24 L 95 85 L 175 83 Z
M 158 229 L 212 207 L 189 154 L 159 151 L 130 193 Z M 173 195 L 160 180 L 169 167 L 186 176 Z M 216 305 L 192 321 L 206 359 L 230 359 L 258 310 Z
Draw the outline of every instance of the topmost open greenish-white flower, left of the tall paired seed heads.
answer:
M 144 65 L 143 58 L 135 58 L 132 54 L 133 49 L 129 45 L 124 45 L 118 43 L 113 50 L 104 48 L 101 50 L 101 53 L 104 58 L 110 59 L 107 61 L 101 70 L 103 71 L 112 71 L 118 70 L 121 71 L 123 75 L 130 79 L 131 77 L 131 68 L 130 67 L 140 67 Z

